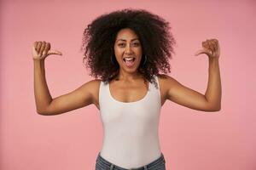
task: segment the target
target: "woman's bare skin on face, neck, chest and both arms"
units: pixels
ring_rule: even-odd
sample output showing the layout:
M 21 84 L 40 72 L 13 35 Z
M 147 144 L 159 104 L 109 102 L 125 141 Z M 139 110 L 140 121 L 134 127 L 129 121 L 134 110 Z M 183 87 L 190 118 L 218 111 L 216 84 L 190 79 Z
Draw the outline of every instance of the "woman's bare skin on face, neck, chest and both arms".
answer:
M 119 63 L 118 81 L 109 82 L 110 93 L 113 99 L 120 102 L 134 102 L 147 94 L 148 81 L 145 85 L 144 78 L 138 72 L 138 65 L 142 59 L 142 47 L 134 31 L 130 29 L 120 30 L 114 44 L 114 53 Z M 34 42 L 32 55 L 35 65 L 35 98 L 38 113 L 41 115 L 57 115 L 67 111 L 73 111 L 86 105 L 94 104 L 99 106 L 99 87 L 101 80 L 95 79 L 85 82 L 79 88 L 68 94 L 63 94 L 52 99 L 49 94 L 44 74 L 38 76 L 44 60 L 50 54 L 61 52 L 50 49 L 49 42 Z M 221 82 L 218 59 L 220 48 L 217 39 L 210 39 L 202 42 L 202 49 L 195 55 L 207 54 L 209 59 L 209 76 L 207 91 L 200 94 L 193 89 L 183 86 L 173 77 L 161 75 L 160 82 L 161 105 L 167 99 L 179 105 L 197 111 L 219 111 L 221 108 Z M 135 64 L 131 67 L 125 66 L 124 57 L 134 57 Z M 42 69 L 42 68 L 41 68 Z

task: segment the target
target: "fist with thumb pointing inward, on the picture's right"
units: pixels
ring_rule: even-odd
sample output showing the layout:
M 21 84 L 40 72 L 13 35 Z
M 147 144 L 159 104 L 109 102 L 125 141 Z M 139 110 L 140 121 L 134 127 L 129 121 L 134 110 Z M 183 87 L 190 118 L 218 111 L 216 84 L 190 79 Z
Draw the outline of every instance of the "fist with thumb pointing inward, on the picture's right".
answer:
M 218 59 L 220 55 L 220 49 L 217 39 L 210 39 L 205 42 L 202 42 L 203 49 L 198 50 L 195 53 L 195 56 L 199 54 L 207 54 L 209 59 Z

